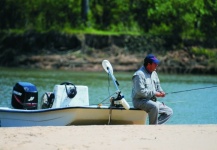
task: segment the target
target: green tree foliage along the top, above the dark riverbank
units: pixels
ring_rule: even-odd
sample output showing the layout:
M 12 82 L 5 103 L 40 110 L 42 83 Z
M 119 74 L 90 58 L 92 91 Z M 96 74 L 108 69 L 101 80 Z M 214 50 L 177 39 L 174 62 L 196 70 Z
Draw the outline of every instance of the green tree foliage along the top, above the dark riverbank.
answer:
M 216 47 L 215 0 L 1 0 L 1 30 L 51 30 L 76 33 L 101 31 L 111 34 L 158 36 L 167 44 L 185 45 L 186 39 Z

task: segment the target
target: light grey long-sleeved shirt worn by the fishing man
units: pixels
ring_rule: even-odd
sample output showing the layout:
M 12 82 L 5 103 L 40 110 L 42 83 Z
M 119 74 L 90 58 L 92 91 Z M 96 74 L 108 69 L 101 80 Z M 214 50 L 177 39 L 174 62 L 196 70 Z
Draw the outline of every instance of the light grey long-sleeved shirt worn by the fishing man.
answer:
M 157 72 L 149 73 L 144 66 L 134 73 L 132 81 L 131 97 L 133 100 L 153 99 L 156 92 L 163 91 Z

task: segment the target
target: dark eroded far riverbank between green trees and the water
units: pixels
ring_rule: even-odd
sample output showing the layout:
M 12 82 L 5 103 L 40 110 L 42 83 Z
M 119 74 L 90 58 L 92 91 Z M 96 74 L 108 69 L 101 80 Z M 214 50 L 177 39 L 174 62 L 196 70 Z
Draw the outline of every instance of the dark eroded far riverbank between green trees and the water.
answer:
M 159 37 L 68 35 L 57 32 L 5 34 L 0 38 L 0 66 L 72 71 L 102 71 L 109 60 L 116 71 L 135 71 L 148 53 L 161 63 L 158 71 L 177 74 L 217 74 L 217 49 L 165 46 Z M 170 50 L 171 49 L 171 50 Z

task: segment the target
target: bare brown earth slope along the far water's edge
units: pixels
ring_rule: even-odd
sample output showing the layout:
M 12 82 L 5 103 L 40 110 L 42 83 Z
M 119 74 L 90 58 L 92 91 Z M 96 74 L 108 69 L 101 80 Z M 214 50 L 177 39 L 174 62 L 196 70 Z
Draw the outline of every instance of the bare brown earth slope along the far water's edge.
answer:
M 209 65 L 205 56 L 197 57 L 185 50 L 167 52 L 165 54 L 153 53 L 161 61 L 158 71 L 176 74 L 217 74 L 215 64 Z M 102 60 L 107 59 L 116 71 L 135 71 L 142 64 L 144 53 L 127 54 L 120 49 L 111 50 L 110 53 L 93 51 L 92 54 L 82 54 L 81 51 L 48 53 L 42 55 L 21 55 L 16 59 L 13 67 L 60 69 L 72 71 L 102 71 Z

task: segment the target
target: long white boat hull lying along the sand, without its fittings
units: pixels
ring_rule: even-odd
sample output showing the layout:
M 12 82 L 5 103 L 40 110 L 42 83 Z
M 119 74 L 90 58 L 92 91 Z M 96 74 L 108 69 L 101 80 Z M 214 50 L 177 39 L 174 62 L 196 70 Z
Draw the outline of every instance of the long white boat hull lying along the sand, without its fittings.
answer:
M 131 108 L 64 107 L 40 110 L 0 108 L 1 127 L 145 124 L 147 113 Z

